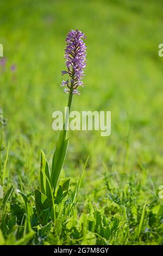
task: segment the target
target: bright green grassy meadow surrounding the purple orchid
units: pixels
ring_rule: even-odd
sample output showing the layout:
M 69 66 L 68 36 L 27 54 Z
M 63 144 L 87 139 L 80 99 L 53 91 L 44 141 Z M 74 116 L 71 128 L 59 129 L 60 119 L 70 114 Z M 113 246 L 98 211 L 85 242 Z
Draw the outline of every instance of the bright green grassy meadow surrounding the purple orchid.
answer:
M 161 8 L 151 0 L 1 1 L 1 244 L 162 245 Z M 39 214 L 40 151 L 51 166 L 52 113 L 67 104 L 65 36 L 76 28 L 87 35 L 87 68 L 72 109 L 111 111 L 111 136 L 69 132 L 60 180 L 70 177 L 70 186 L 58 186 L 54 215 L 48 203 Z

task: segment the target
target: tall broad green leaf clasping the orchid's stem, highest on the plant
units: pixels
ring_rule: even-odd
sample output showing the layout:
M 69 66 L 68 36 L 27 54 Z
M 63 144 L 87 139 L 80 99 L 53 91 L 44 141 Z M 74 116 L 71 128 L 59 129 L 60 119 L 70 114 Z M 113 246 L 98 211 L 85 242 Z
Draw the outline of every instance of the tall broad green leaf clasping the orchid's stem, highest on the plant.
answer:
M 51 180 L 52 180 L 54 192 L 58 184 L 61 168 L 64 164 L 69 139 L 70 138 L 66 139 L 66 131 L 62 130 L 58 138 L 58 142 L 57 142 L 57 146 L 55 149 L 53 162 L 52 162 Z

